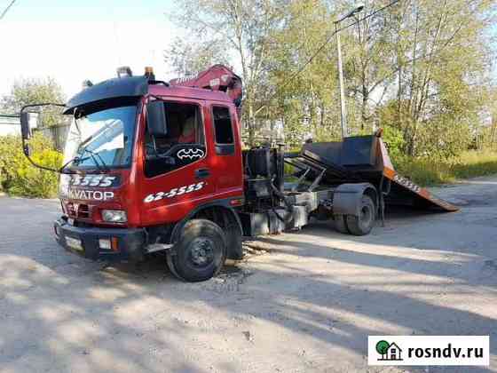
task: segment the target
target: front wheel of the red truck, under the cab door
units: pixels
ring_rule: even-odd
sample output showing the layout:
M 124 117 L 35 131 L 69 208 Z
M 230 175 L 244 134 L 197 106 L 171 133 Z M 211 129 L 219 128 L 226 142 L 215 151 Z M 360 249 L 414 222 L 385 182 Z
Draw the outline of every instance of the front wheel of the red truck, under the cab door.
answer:
M 216 276 L 226 259 L 223 230 L 210 220 L 188 221 L 168 255 L 170 271 L 185 282 L 201 282 Z

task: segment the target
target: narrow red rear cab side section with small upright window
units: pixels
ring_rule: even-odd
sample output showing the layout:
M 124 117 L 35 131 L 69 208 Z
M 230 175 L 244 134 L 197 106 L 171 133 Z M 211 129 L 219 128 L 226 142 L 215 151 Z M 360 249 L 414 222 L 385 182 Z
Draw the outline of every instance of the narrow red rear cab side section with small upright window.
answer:
M 223 104 L 210 107 L 212 130 L 214 132 L 214 153 L 216 165 L 217 198 L 241 196 L 242 162 L 240 131 L 236 127 L 234 110 Z

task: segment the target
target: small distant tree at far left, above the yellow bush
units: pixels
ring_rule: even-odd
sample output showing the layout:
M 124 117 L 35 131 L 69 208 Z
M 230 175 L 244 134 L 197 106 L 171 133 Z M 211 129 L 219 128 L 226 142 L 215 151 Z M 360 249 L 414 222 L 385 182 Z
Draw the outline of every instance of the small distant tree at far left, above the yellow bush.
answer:
M 66 97 L 62 88 L 51 77 L 44 79 L 20 79 L 14 82 L 11 94 L 0 100 L 0 107 L 5 113 L 18 114 L 25 105 L 52 103 L 63 104 Z M 46 107 L 40 113 L 39 123 L 50 127 L 59 123 L 59 111 Z

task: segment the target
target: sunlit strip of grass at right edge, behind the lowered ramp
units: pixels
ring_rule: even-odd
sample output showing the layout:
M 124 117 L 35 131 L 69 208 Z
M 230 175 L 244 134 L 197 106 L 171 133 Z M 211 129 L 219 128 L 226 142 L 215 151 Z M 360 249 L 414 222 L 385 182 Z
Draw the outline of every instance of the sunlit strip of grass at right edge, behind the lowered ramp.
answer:
M 402 158 L 394 163 L 398 173 L 428 187 L 497 173 L 497 152 L 468 151 L 450 161 Z

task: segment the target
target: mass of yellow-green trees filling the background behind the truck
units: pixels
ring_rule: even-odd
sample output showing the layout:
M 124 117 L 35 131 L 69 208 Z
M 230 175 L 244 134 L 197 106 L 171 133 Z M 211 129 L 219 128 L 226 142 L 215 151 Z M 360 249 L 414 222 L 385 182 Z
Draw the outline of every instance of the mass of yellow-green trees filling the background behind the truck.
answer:
M 173 20 L 201 46 L 173 44 L 170 55 L 178 58 L 172 65 L 181 73 L 234 57 L 244 81 L 242 120 L 249 138 L 275 128 L 283 129 L 290 146 L 310 136 L 340 138 L 334 20 L 354 2 L 180 3 Z M 366 6 L 362 15 L 381 4 Z M 350 134 L 371 133 L 376 124 L 387 129 L 386 138 L 391 129 L 392 154 L 438 160 L 471 147 L 485 117 L 497 117 L 497 88 L 489 79 L 496 10 L 495 0 L 399 2 L 343 29 Z M 491 139 L 497 142 L 495 130 Z

